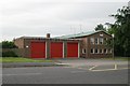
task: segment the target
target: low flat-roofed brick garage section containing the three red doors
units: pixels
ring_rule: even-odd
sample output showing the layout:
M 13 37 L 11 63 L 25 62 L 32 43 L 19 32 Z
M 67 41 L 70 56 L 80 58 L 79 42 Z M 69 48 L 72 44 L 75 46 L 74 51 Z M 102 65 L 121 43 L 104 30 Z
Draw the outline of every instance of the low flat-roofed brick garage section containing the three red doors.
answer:
M 23 57 L 79 58 L 81 55 L 81 40 L 78 39 L 21 37 L 14 43 L 18 48 L 24 48 Z

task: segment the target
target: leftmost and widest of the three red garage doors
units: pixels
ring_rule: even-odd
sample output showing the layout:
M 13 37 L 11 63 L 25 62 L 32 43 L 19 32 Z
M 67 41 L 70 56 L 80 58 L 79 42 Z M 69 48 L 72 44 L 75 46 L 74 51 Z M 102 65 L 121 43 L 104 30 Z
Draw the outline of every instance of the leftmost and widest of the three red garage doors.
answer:
M 46 42 L 31 42 L 31 58 L 46 58 Z

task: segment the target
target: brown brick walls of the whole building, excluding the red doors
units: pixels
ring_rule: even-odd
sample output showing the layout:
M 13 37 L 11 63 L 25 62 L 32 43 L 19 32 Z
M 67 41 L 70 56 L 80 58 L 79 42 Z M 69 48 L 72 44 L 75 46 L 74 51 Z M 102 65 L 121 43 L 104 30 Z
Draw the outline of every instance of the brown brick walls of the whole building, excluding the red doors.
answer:
M 46 42 L 47 44 L 47 58 L 50 58 L 50 43 L 51 42 L 63 42 L 64 46 L 64 58 L 67 57 L 67 42 L 78 42 L 79 44 L 79 57 L 84 58 L 102 58 L 102 57 L 112 57 L 113 48 L 106 46 L 105 40 L 112 39 L 112 35 L 99 31 L 91 34 L 69 38 L 69 39 L 54 39 L 54 38 L 30 38 L 22 37 L 14 40 L 14 43 L 18 48 L 23 48 L 23 57 L 30 57 L 30 43 L 31 42 Z M 92 40 L 93 39 L 93 40 Z M 93 41 L 93 42 L 92 42 Z M 103 41 L 103 42 L 102 42 Z

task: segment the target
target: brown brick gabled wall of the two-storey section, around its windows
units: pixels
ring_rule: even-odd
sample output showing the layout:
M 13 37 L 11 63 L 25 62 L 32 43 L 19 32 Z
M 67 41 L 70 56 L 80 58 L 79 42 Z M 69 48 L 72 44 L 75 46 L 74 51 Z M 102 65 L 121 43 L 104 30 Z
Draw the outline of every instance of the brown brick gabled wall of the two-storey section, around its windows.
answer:
M 93 38 L 94 43 L 91 43 L 91 38 Z M 86 58 L 98 58 L 98 57 L 112 57 L 113 55 L 113 48 L 108 47 L 105 44 L 105 39 L 110 40 L 112 35 L 107 34 L 104 31 L 95 32 L 90 35 L 86 37 L 79 37 L 75 39 L 81 39 L 82 45 L 81 45 L 81 56 Z M 95 39 L 98 39 L 98 44 L 95 43 Z M 100 43 L 100 39 L 103 39 L 103 43 Z M 106 48 L 107 53 L 104 53 L 104 49 Z M 94 53 L 91 53 L 91 49 L 94 51 Z M 95 53 L 95 49 L 98 49 L 98 53 Z M 102 53 L 100 51 L 102 49 Z M 86 52 L 86 53 L 84 53 Z

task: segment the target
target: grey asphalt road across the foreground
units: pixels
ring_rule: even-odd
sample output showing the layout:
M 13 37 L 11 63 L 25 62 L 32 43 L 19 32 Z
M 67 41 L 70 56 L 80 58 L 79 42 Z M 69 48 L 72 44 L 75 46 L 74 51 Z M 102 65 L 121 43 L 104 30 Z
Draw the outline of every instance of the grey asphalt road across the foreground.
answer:
M 3 84 L 127 84 L 128 70 L 90 71 L 83 67 L 4 68 Z

